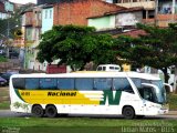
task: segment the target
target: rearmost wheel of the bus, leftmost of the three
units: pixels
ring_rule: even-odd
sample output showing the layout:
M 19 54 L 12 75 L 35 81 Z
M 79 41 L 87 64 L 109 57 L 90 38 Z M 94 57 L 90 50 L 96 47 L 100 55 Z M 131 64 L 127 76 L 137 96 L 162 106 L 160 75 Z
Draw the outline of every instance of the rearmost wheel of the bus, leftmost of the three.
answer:
M 41 105 L 33 105 L 32 106 L 32 114 L 34 116 L 42 117 L 44 114 L 44 111 Z

